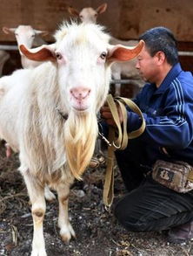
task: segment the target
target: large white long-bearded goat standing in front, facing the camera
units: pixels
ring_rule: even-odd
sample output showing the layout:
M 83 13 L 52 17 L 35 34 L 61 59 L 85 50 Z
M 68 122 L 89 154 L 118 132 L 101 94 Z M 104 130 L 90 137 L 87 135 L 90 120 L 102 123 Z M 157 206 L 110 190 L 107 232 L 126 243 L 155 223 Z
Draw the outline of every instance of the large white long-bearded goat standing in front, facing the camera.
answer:
M 110 64 L 135 58 L 134 49 L 109 45 L 96 24 L 63 24 L 56 44 L 21 52 L 47 61 L 0 79 L 0 137 L 20 152 L 20 168 L 32 204 L 31 256 L 45 256 L 43 187 L 57 190 L 63 241 L 75 232 L 68 218 L 70 183 L 90 163 L 97 139 L 97 111 L 109 91 Z M 121 51 L 120 51 L 121 50 Z

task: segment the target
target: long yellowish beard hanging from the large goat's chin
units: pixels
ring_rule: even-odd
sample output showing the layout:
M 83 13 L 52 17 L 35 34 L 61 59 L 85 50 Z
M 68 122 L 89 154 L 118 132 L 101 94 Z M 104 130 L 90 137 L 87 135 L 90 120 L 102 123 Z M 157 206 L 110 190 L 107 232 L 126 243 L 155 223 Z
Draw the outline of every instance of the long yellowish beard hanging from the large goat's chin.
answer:
M 96 114 L 70 112 L 65 122 L 64 145 L 67 163 L 79 180 L 93 156 L 97 134 Z

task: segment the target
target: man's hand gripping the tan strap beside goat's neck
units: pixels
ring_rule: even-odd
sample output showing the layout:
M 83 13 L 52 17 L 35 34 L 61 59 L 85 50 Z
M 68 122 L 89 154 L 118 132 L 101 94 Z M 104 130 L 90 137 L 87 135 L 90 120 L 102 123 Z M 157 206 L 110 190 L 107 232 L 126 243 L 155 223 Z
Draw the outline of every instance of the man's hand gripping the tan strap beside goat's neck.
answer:
M 121 109 L 118 104 L 116 104 L 116 107 L 117 107 L 117 111 L 118 111 L 119 121 L 122 124 L 123 114 L 122 114 Z M 116 122 L 113 119 L 113 116 L 110 112 L 110 107 L 108 106 L 107 102 L 103 105 L 103 107 L 101 107 L 100 113 L 101 113 L 101 117 L 104 119 L 104 121 L 106 121 L 109 125 L 116 127 Z

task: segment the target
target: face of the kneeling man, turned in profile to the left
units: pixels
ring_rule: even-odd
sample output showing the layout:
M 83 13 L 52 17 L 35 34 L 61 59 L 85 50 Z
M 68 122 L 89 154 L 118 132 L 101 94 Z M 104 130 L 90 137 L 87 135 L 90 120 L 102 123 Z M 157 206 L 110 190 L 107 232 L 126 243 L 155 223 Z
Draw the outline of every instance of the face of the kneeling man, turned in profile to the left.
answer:
M 142 52 L 137 56 L 136 68 L 138 69 L 143 80 L 150 83 L 156 82 L 156 76 L 158 74 L 157 56 L 150 56 L 145 46 Z

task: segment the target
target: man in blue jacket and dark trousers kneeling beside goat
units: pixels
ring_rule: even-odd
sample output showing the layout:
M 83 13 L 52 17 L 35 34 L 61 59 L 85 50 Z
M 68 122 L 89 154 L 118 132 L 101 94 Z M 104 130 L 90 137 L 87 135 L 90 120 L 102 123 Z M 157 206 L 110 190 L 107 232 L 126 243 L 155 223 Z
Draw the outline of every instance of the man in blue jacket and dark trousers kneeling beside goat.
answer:
M 150 173 L 159 159 L 193 166 L 193 77 L 178 62 L 170 30 L 156 27 L 140 39 L 145 46 L 136 68 L 147 84 L 134 101 L 143 112 L 146 128 L 143 135 L 130 140 L 127 149 L 116 150 L 129 193 L 116 204 L 115 215 L 128 231 L 169 230 L 169 241 L 181 243 L 193 239 L 193 190 L 176 192 L 154 181 Z M 101 114 L 107 124 L 115 124 L 109 107 L 102 107 Z M 129 130 L 140 125 L 138 115 L 128 110 Z

